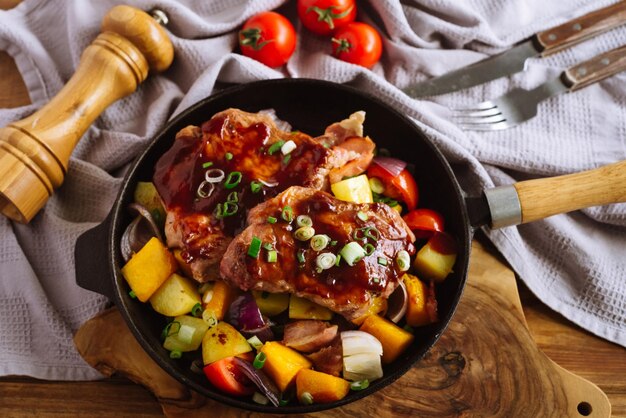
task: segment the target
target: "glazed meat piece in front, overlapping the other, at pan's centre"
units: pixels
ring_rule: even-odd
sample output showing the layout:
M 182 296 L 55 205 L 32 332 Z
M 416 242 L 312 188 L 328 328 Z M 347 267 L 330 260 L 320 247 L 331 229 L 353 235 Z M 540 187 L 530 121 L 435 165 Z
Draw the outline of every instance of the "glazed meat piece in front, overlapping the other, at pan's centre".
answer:
M 328 237 L 326 248 L 317 251 L 310 239 L 296 238 L 300 215 L 311 218 L 316 235 Z M 268 222 L 270 217 L 277 222 Z M 366 314 L 376 298 L 393 292 L 403 274 L 396 257 L 401 251 L 415 252 L 415 236 L 389 206 L 344 202 L 310 188 L 290 187 L 258 205 L 249 212 L 248 224 L 222 259 L 224 280 L 243 290 L 294 293 L 350 320 Z M 253 241 L 263 243 L 256 257 L 249 254 Z M 319 265 L 321 254 L 332 258 L 348 243 L 352 248 L 359 244 L 368 255 L 353 265 L 346 258 L 338 265 Z M 266 254 L 270 247 L 277 255 L 273 262 Z

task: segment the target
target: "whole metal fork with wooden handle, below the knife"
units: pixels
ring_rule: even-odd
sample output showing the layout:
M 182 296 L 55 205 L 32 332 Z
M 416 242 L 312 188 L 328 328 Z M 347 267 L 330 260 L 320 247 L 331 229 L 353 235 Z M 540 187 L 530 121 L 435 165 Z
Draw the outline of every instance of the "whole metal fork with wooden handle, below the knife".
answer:
M 532 90 L 518 88 L 494 100 L 451 109 L 452 119 L 465 130 L 511 128 L 537 115 L 540 102 L 563 92 L 581 89 L 623 70 L 626 70 L 626 45 L 571 67 L 559 77 Z

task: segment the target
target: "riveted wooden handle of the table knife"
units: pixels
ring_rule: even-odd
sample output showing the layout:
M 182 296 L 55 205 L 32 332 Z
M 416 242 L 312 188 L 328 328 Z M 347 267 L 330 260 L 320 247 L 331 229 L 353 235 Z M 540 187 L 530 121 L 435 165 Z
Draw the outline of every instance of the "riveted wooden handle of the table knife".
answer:
M 546 56 L 626 23 L 626 0 L 570 20 L 535 35 Z

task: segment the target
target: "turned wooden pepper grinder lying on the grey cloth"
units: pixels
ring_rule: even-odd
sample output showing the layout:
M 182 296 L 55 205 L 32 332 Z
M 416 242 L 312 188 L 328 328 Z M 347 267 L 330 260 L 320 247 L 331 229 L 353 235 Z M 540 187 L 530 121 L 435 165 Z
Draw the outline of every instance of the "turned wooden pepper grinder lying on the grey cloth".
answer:
M 115 6 L 78 69 L 44 107 L 0 129 L 0 211 L 29 222 L 63 183 L 69 158 L 89 125 L 114 101 L 134 92 L 149 71 L 167 69 L 174 48 L 159 25 L 167 17 Z

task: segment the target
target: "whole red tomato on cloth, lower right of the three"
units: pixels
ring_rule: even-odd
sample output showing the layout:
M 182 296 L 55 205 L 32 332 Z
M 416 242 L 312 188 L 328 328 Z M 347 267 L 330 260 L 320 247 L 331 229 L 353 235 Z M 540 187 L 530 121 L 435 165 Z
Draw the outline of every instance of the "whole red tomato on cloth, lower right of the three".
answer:
M 383 42 L 376 29 L 362 22 L 351 22 L 336 29 L 332 44 L 335 57 L 366 68 L 376 64 L 383 51 Z

